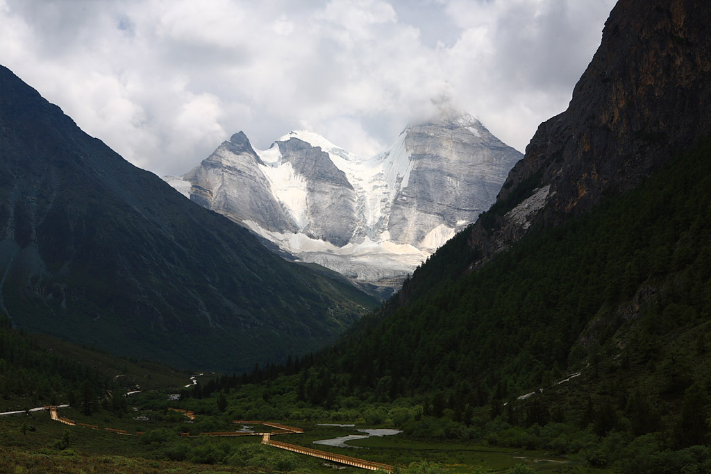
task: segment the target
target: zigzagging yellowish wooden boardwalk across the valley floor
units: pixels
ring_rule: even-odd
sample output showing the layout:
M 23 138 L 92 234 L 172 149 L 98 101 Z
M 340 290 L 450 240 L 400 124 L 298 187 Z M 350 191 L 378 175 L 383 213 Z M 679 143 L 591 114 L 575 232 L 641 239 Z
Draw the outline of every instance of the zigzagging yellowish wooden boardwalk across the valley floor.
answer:
M 89 425 L 84 423 L 78 423 L 74 420 L 64 418 L 59 416 L 57 412 L 57 406 L 45 406 L 45 409 L 49 410 L 50 416 L 55 421 L 60 421 L 68 425 L 78 425 L 84 426 L 85 428 L 99 429 L 98 426 Z M 195 419 L 195 412 L 189 410 L 183 410 L 178 408 L 169 408 L 169 410 L 179 411 L 183 415 L 187 416 L 189 419 Z M 267 446 L 274 446 L 274 448 L 284 449 L 286 451 L 292 451 L 294 453 L 304 454 L 306 456 L 312 456 L 314 458 L 320 458 L 324 460 L 330 460 L 334 463 L 341 463 L 346 465 L 352 465 L 356 468 L 368 469 L 368 470 L 385 470 L 388 473 L 392 472 L 392 465 L 387 465 L 383 463 L 374 463 L 373 461 L 351 458 L 351 456 L 343 456 L 336 453 L 328 453 L 328 451 L 319 451 L 317 449 L 305 448 L 304 446 L 298 446 L 296 444 L 282 443 L 281 441 L 272 440 L 272 436 L 277 434 L 294 434 L 294 433 L 304 433 L 304 430 L 300 428 L 294 428 L 294 426 L 287 426 L 279 423 L 272 423 L 270 421 L 252 421 L 252 420 L 235 420 L 232 421 L 235 424 L 249 424 L 249 425 L 263 425 L 269 426 L 269 428 L 274 428 L 277 431 L 270 431 L 269 433 L 250 433 L 250 432 L 240 432 L 240 431 L 216 431 L 210 433 L 200 433 L 200 436 L 262 436 L 262 444 Z M 112 431 L 113 433 L 118 433 L 122 435 L 132 436 L 126 430 L 106 428 L 107 431 Z M 137 433 L 139 434 L 139 433 Z M 181 436 L 190 436 L 189 433 L 181 433 Z

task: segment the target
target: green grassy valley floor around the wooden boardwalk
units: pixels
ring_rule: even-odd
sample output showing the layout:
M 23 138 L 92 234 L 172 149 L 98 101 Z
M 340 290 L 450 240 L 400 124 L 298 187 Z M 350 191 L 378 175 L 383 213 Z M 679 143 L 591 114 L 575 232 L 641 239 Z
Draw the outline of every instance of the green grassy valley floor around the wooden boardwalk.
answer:
M 151 398 L 144 395 L 144 400 L 150 402 Z M 138 404 L 141 397 L 135 399 Z M 26 415 L 6 416 L 0 419 L 0 446 L 4 446 L 4 456 L 0 460 L 0 472 L 35 472 L 37 470 L 54 472 L 277 472 L 264 468 L 239 468 L 234 466 L 212 464 L 201 465 L 189 459 L 176 462 L 166 458 L 166 448 L 173 442 L 186 443 L 192 450 L 204 445 L 223 446 L 230 452 L 235 452 L 240 446 L 260 444 L 259 436 L 240 436 L 227 438 L 208 438 L 196 436 L 191 438 L 178 438 L 177 432 L 186 424 L 181 416 L 169 412 L 165 414 L 160 410 L 129 409 L 128 414 L 116 416 L 109 411 L 98 411 L 92 416 L 85 416 L 73 408 L 60 409 L 60 416 L 65 416 L 75 421 L 95 424 L 98 430 L 87 429 L 80 426 L 67 426 L 50 419 L 48 411 L 38 411 Z M 136 421 L 134 416 L 147 414 L 149 421 Z M 182 418 L 181 418 L 182 417 Z M 198 414 L 194 425 L 214 422 L 215 431 L 230 431 L 237 429 L 231 424 L 228 416 L 210 416 Z M 275 421 L 275 420 L 272 420 Z M 278 421 L 278 420 L 276 420 Z M 513 466 L 523 463 L 543 473 L 606 473 L 605 470 L 591 470 L 580 467 L 574 459 L 553 456 L 545 451 L 526 451 L 521 449 L 498 448 L 481 446 L 471 442 L 441 442 L 407 438 L 404 435 L 371 437 L 363 440 L 352 441 L 352 446 L 358 448 L 333 448 L 331 446 L 314 445 L 313 441 L 326 438 L 335 438 L 356 433 L 358 428 L 373 427 L 358 423 L 354 428 L 318 426 L 316 421 L 301 422 L 282 420 L 289 426 L 297 426 L 305 430 L 302 434 L 279 435 L 279 441 L 308 446 L 322 451 L 341 453 L 367 460 L 388 463 L 391 465 L 408 465 L 413 462 L 426 460 L 429 463 L 442 465 L 451 473 L 476 473 L 484 469 L 491 472 L 505 472 Z M 321 422 L 321 421 L 319 421 Z M 324 420 L 328 423 L 328 420 Z M 31 425 L 35 431 L 26 431 L 23 434 L 23 425 Z M 106 427 L 126 429 L 129 433 L 135 431 L 151 431 L 167 428 L 174 433 L 174 438 L 166 442 L 144 443 L 141 436 L 122 436 L 106 431 Z M 264 426 L 255 426 L 255 431 L 269 431 Z M 64 433 L 69 433 L 69 446 L 65 450 L 58 449 L 55 445 L 63 438 Z M 172 440 L 172 441 L 171 441 Z M 283 456 L 284 451 L 276 448 L 267 450 L 268 456 Z M 333 468 L 324 466 L 321 461 L 308 456 L 296 456 L 297 464 L 289 472 L 299 473 L 333 473 Z M 251 469 L 251 470 L 250 470 Z M 363 472 L 356 468 L 339 470 L 342 473 Z

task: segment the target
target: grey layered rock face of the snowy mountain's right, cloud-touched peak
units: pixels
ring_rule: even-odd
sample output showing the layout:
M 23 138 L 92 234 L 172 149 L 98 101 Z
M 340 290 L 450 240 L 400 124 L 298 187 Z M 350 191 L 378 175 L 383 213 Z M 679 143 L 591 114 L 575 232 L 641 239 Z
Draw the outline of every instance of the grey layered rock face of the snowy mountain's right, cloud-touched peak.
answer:
M 456 232 L 474 222 L 520 159 L 470 115 L 449 114 L 412 126 L 401 149 L 409 154 L 411 171 L 395 194 L 388 230 L 394 242 L 429 251 L 444 243 L 430 232 L 438 227 Z

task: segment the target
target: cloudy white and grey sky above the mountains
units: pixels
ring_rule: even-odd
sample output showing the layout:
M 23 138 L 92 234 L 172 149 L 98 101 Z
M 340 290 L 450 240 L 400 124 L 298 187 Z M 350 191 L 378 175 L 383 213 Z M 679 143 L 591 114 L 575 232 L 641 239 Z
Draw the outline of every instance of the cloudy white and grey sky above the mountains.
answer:
M 87 133 L 182 174 L 243 130 L 372 156 L 447 98 L 524 151 L 614 0 L 0 0 L 0 63 Z

